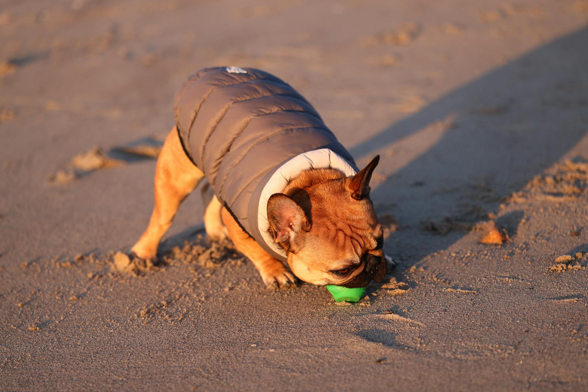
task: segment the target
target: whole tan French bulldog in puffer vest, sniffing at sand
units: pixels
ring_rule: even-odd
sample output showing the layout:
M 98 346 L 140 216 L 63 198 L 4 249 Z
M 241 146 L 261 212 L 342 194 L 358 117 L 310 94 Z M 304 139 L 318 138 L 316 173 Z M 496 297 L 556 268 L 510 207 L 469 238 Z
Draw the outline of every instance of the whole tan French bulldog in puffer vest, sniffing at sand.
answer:
M 253 84 L 255 88 L 252 89 Z M 201 91 L 205 91 L 202 94 L 204 98 L 200 98 Z M 245 98 L 240 98 L 244 94 L 243 91 L 247 95 Z M 226 92 L 230 92 L 231 95 Z M 211 102 L 210 105 L 206 99 Z M 227 101 L 228 99 L 232 100 Z M 259 106 L 259 102 L 263 102 L 263 105 Z M 182 111 L 181 105 L 188 109 Z M 246 108 L 245 105 L 256 105 L 252 109 L 255 114 L 250 115 L 243 109 Z M 203 113 L 208 110 L 211 116 L 199 114 L 199 110 Z M 196 118 L 196 116 L 201 117 Z M 198 122 L 200 118 L 204 119 L 201 123 Z M 276 122 L 276 119 L 279 122 Z M 232 128 L 228 128 L 228 125 L 232 124 L 230 120 L 235 121 L 236 124 Z M 243 131 L 249 123 L 254 123 L 258 128 L 251 126 L 250 131 Z M 282 123 L 288 125 L 282 125 Z M 196 133 L 199 131 L 192 130 L 193 136 L 190 136 L 189 132 L 195 128 L 195 124 L 200 124 L 198 128 L 203 131 Z M 296 128 L 296 124 L 302 125 Z M 226 134 L 218 130 L 223 126 L 225 126 Z M 269 130 L 266 131 L 263 127 Z M 230 132 L 234 132 L 235 128 L 238 128 L 238 135 L 232 136 Z M 220 190 L 220 196 L 223 196 L 225 200 L 230 199 L 232 196 L 225 192 L 225 189 L 230 188 L 235 182 L 231 183 L 229 176 L 231 172 L 228 170 L 225 170 L 222 176 L 218 174 L 219 165 L 221 169 L 223 165 L 229 169 L 245 165 L 242 163 L 243 157 L 247 158 L 247 153 L 258 145 L 264 148 L 259 149 L 259 152 L 256 152 L 257 155 L 253 155 L 253 160 L 247 161 L 249 165 L 255 166 L 256 161 L 267 159 L 272 154 L 274 155 L 272 159 L 278 159 L 277 162 L 280 162 L 282 158 L 279 151 L 283 146 L 286 149 L 292 149 L 292 146 L 297 145 L 296 143 L 303 146 L 306 143 L 307 139 L 293 133 L 300 132 L 299 129 L 308 133 L 308 140 L 313 138 L 317 140 L 315 145 L 333 146 L 330 148 L 346 153 L 336 142 L 332 133 L 325 128 L 312 106 L 275 76 L 255 69 L 235 67 L 205 69 L 192 76 L 176 98 L 176 126 L 169 133 L 156 166 L 155 207 L 149 226 L 141 239 L 132 247 L 132 252 L 137 257 L 156 262 L 159 242 L 171 226 L 182 200 L 205 177 L 205 173 L 196 166 L 195 161 L 201 165 L 200 167 L 209 167 L 213 172 L 214 176 L 208 176 L 207 172 L 206 178 L 213 186 L 216 186 L 215 193 Z M 214 134 L 214 132 L 217 133 Z M 202 138 L 205 140 L 204 144 L 198 144 L 198 138 L 202 135 L 205 136 Z M 239 135 L 245 140 L 244 142 L 238 139 Z M 258 139 L 252 139 L 251 135 Z M 280 139 L 276 140 L 282 144 L 273 145 L 271 149 L 265 147 L 263 143 L 274 135 L 279 136 Z M 228 143 L 226 140 L 230 142 L 228 146 L 223 145 Z M 239 152 L 239 148 L 246 146 L 246 143 L 250 143 L 250 146 L 244 154 L 230 155 L 233 150 Z M 209 145 L 220 147 L 216 150 Z M 208 149 L 206 149 L 207 146 Z M 218 152 L 222 152 L 222 155 L 218 155 Z M 266 155 L 259 156 L 259 153 Z M 314 153 L 315 155 L 313 152 L 304 155 L 299 162 L 312 160 L 312 156 L 315 158 L 318 156 L 319 160 L 324 156 L 328 156 L 329 159 L 339 157 L 329 149 L 319 149 Z M 221 162 L 225 159 L 223 158 L 225 155 L 229 156 L 228 163 Z M 198 160 L 200 156 L 212 158 L 208 161 Z M 216 156 L 220 158 L 215 160 Z M 285 158 L 288 159 L 288 156 Z M 350 156 L 346 159 L 345 162 L 349 162 L 349 159 L 353 162 Z M 329 163 L 331 161 L 324 164 L 326 166 L 318 166 L 318 168 L 313 166 L 296 172 L 297 174 L 289 178 L 285 186 L 278 188 L 281 192 L 269 193 L 269 199 L 268 197 L 264 199 L 266 205 L 259 203 L 259 216 L 265 219 L 265 213 L 267 213 L 264 222 L 269 226 L 265 230 L 263 246 L 245 231 L 245 227 L 236 220 L 235 212 L 229 209 L 228 202 L 221 201 L 221 197 L 217 197 L 219 193 L 212 197 L 206 207 L 204 215 L 206 233 L 211 240 L 230 237 L 236 248 L 252 260 L 263 282 L 269 288 L 295 284 L 294 275 L 313 284 L 365 287 L 372 280 L 382 279 L 386 273 L 387 260 L 382 249 L 383 230 L 377 221 L 369 198 L 369 180 L 378 160 L 379 156 L 376 156 L 359 173 L 356 173 L 356 169 L 352 169 L 348 163 L 342 164 L 345 169 L 335 169 L 332 163 Z M 273 163 L 272 165 L 274 168 L 282 167 Z M 355 164 L 352 163 L 352 165 Z M 255 167 L 243 166 L 240 170 L 240 176 L 236 177 L 235 181 L 248 176 Z M 342 170 L 348 173 L 351 170 L 351 173 L 356 174 L 346 176 Z M 252 178 L 259 179 L 268 172 L 270 169 Z M 286 177 L 283 173 L 278 175 Z M 223 177 L 222 183 L 220 183 L 220 177 Z M 229 185 L 225 185 L 226 183 Z M 222 188 L 223 185 L 225 185 L 224 188 Z M 238 196 L 243 195 L 243 189 L 233 193 Z M 251 192 L 245 193 L 249 195 Z M 256 202 L 255 197 L 248 197 Z M 257 200 L 260 198 L 258 197 Z M 233 202 L 233 207 L 235 206 Z M 249 225 L 249 230 L 252 230 L 253 226 L 250 222 L 256 219 L 258 210 L 252 210 L 251 207 L 249 210 L 253 211 L 253 214 L 248 216 L 249 219 L 247 217 L 244 219 Z M 277 252 L 275 243 L 271 241 L 272 238 L 279 244 Z M 292 272 L 276 257 L 286 260 Z M 391 262 L 391 259 L 388 261 Z

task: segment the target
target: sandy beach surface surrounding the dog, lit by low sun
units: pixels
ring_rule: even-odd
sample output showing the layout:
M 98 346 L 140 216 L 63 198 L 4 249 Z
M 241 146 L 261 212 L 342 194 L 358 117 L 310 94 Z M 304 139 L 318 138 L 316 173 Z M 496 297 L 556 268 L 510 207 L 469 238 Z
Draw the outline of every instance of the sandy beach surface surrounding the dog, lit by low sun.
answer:
M 586 0 L 1 0 L 0 43 L 0 390 L 588 390 Z M 116 269 L 216 65 L 382 157 L 397 267 L 359 303 L 267 290 L 198 192 Z

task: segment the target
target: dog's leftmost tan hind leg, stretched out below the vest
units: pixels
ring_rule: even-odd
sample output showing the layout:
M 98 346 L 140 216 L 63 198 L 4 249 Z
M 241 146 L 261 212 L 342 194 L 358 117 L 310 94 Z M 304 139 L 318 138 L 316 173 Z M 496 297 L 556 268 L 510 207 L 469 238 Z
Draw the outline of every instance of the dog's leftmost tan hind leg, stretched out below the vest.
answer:
M 182 149 L 178 131 L 174 127 L 169 133 L 155 169 L 155 206 L 149 226 L 132 247 L 138 257 L 155 261 L 157 247 L 163 234 L 172 225 L 182 201 L 204 177 L 202 170 L 190 162 Z

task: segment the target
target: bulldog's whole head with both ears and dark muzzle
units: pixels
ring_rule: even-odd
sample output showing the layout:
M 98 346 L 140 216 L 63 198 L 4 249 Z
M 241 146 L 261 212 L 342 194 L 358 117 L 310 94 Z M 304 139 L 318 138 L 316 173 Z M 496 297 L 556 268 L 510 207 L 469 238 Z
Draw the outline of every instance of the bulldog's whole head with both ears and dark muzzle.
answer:
M 305 282 L 365 287 L 386 273 L 383 230 L 369 199 L 379 156 L 345 177 L 333 169 L 306 170 L 268 201 L 274 240 Z

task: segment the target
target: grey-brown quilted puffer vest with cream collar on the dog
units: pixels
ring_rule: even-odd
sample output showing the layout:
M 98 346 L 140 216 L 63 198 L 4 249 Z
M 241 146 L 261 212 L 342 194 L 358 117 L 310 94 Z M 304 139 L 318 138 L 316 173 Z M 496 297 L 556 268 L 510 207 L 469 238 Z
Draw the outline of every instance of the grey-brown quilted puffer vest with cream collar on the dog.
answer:
M 346 175 L 357 171 L 312 105 L 258 69 L 198 71 L 177 93 L 174 112 L 186 155 L 205 173 L 220 202 L 245 232 L 282 260 L 285 253 L 268 243 L 266 215 L 263 221 L 267 200 L 262 193 L 268 193 L 268 182 L 280 192 L 288 181 L 280 178 L 283 186 L 276 185 L 276 170 L 296 158 L 299 162 L 286 165 L 290 168 L 282 177 L 293 178 L 311 167 L 336 167 Z M 311 154 L 315 158 L 305 155 L 314 150 L 320 152 Z

